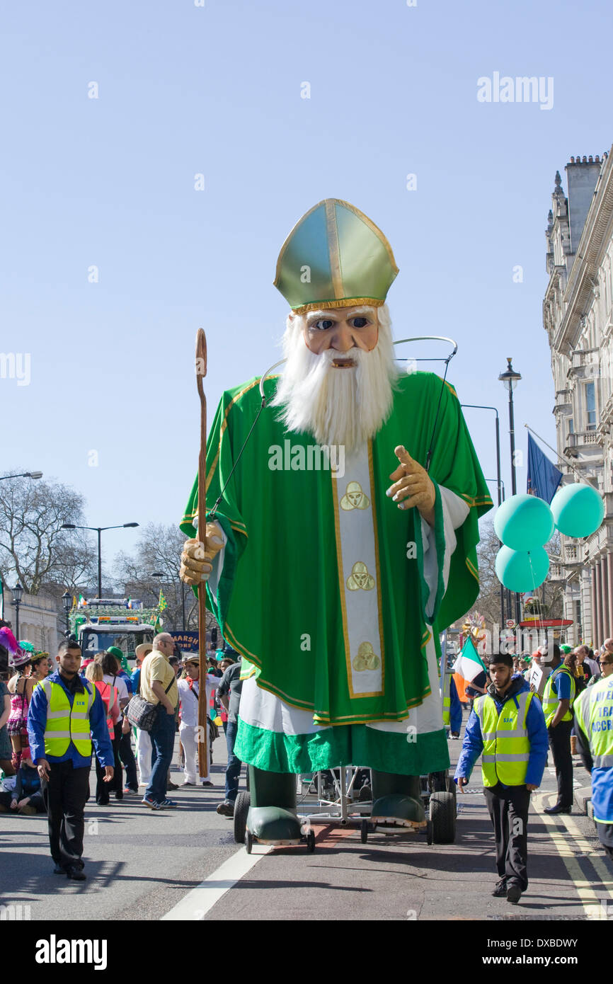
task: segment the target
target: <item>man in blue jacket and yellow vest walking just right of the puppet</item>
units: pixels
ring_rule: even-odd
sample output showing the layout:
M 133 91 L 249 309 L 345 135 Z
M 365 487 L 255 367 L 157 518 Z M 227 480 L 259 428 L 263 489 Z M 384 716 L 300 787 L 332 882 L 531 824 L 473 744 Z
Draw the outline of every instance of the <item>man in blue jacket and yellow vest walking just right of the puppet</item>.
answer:
M 490 686 L 470 712 L 456 769 L 466 785 L 480 755 L 483 792 L 496 836 L 500 881 L 493 895 L 517 905 L 527 888 L 527 814 L 530 793 L 547 762 L 547 727 L 542 707 L 508 653 L 492 657 Z

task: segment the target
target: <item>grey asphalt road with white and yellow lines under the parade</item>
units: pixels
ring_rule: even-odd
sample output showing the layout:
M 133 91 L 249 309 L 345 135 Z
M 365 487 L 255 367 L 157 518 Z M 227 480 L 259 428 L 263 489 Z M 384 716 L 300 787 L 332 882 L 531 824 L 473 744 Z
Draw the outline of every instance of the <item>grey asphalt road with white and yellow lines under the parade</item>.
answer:
M 460 746 L 450 741 L 454 764 Z M 479 769 L 458 796 L 454 844 L 429 846 L 425 836 L 381 830 L 363 844 L 359 830 L 321 824 L 314 825 L 313 854 L 302 845 L 256 845 L 247 855 L 234 842 L 232 821 L 215 812 L 223 799 L 222 736 L 214 759 L 215 788 L 173 792 L 176 810 L 150 811 L 137 796 L 108 807 L 91 799 L 85 883 L 52 874 L 46 818 L 0 815 L 0 904 L 26 907 L 31 920 L 496 922 L 613 915 L 613 864 L 593 822 L 579 806 L 572 816 L 543 813 L 555 802 L 551 763 L 530 807 L 530 884 L 513 906 L 491 895 L 494 838 Z M 586 772 L 579 759 L 575 765 L 576 802 L 583 806 Z M 173 779 L 182 780 L 176 768 Z M 94 780 L 92 771 L 92 789 Z

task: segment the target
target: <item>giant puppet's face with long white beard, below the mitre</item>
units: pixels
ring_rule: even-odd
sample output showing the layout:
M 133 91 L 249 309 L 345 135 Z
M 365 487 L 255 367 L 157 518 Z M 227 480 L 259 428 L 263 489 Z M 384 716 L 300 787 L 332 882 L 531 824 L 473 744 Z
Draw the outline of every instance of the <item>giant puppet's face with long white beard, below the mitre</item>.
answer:
M 289 431 L 347 453 L 375 436 L 398 378 L 385 305 L 292 313 L 283 348 L 287 361 L 272 405 L 283 408 Z

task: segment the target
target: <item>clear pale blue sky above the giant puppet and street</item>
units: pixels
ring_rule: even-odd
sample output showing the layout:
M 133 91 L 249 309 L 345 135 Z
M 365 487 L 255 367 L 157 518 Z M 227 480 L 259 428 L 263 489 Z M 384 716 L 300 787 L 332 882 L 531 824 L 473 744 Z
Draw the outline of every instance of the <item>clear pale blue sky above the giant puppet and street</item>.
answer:
M 325 197 L 392 243 L 396 336 L 456 338 L 460 400 L 504 421 L 512 355 L 518 445 L 523 423 L 554 443 L 544 229 L 556 169 L 613 139 L 607 0 L 33 0 L 3 5 L 0 35 L 0 351 L 31 353 L 30 386 L 0 380 L 0 469 L 73 485 L 92 525 L 178 521 L 196 331 L 212 419 L 279 357 L 276 256 Z M 552 77 L 553 108 L 478 102 L 494 72 Z M 493 414 L 467 419 L 492 477 Z M 510 485 L 506 423 L 502 445 Z M 107 533 L 106 557 L 137 536 Z

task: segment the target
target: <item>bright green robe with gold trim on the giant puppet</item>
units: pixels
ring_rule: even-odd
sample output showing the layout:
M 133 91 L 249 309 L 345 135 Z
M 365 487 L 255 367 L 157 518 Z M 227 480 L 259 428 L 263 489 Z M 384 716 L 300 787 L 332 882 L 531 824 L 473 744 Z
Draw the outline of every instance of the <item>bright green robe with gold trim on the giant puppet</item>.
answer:
M 261 405 L 259 383 L 257 378 L 224 393 L 215 413 L 207 454 L 209 511 Z M 264 389 L 271 400 L 276 380 L 267 379 Z M 441 575 L 434 612 L 427 618 L 420 517 L 414 509 L 398 510 L 385 490 L 398 466 L 398 444 L 425 465 L 441 393 L 429 474 L 435 485 L 459 495 L 469 512 L 456 530 L 458 545 L 444 591 L 437 487 L 435 539 Z M 371 487 L 364 491 L 372 498 L 376 526 L 378 570 L 373 573 L 381 633 L 374 648 L 384 682 L 368 695 L 356 694 L 351 686 L 357 653 L 348 650 L 343 622 L 334 486 L 343 478 L 333 477 L 329 468 L 301 469 L 309 455 L 312 465 L 317 463 L 315 441 L 286 432 L 278 414 L 276 407 L 264 409 L 215 510 L 227 544 L 215 594 L 208 585 L 208 604 L 224 639 L 243 655 L 243 675 L 255 672 L 258 685 L 284 704 L 312 712 L 323 726 L 401 721 L 430 693 L 425 646 L 431 634 L 438 646 L 438 633 L 470 608 L 479 590 L 477 519 L 492 502 L 458 397 L 432 373 L 400 377 L 392 414 L 369 442 Z M 278 469 L 279 463 L 285 467 Z M 181 523 L 189 536 L 196 535 L 197 512 L 196 482 Z M 410 559 L 408 544 L 415 544 L 408 551 Z M 349 573 L 340 577 L 346 580 Z

